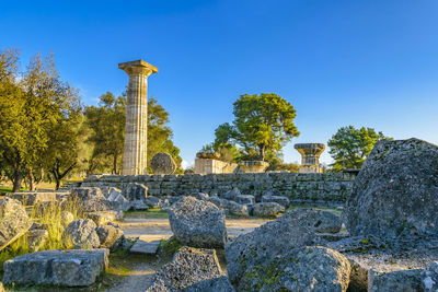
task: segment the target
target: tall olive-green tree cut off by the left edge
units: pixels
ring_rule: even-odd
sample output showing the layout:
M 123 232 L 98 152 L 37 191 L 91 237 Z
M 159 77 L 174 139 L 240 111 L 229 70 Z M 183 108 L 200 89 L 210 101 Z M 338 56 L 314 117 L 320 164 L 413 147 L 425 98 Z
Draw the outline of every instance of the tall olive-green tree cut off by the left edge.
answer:
M 20 190 L 24 177 L 32 185 L 55 125 L 80 107 L 74 89 L 60 79 L 53 55 L 45 61 L 36 55 L 24 73 L 18 60 L 16 50 L 0 52 L 0 164 L 13 191 Z

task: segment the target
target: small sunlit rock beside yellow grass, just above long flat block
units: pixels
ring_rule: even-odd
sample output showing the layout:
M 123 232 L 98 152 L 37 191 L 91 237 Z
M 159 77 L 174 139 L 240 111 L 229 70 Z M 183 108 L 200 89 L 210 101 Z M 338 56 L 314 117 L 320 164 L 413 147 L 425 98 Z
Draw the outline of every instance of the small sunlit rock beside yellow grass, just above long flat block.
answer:
M 97 248 L 100 241 L 95 232 L 96 224 L 90 220 L 78 219 L 72 221 L 62 233 L 62 243 L 74 249 Z

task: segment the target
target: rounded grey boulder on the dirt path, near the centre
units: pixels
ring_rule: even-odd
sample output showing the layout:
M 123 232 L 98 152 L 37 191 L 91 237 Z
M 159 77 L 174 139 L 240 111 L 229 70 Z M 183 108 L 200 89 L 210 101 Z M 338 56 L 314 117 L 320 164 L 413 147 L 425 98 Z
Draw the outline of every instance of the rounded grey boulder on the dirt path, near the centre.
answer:
M 184 197 L 169 210 L 175 237 L 194 247 L 223 247 L 227 243 L 226 214 L 214 203 Z

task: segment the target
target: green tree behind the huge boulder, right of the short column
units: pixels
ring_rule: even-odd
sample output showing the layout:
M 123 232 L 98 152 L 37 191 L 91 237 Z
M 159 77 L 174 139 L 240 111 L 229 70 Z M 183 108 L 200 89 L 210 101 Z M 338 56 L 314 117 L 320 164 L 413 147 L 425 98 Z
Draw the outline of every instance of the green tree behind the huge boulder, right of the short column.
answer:
M 335 161 L 331 165 L 333 171 L 360 168 L 376 142 L 381 140 L 392 140 L 392 138 L 376 132 L 372 128 L 342 127 L 328 140 L 328 153 Z

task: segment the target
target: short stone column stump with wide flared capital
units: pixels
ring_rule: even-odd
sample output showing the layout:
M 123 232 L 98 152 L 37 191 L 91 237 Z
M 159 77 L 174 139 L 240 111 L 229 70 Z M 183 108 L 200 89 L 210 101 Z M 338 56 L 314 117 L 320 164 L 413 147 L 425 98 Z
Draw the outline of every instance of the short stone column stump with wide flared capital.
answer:
M 325 150 L 323 143 L 299 143 L 293 145 L 301 154 L 300 173 L 320 173 L 320 156 Z

